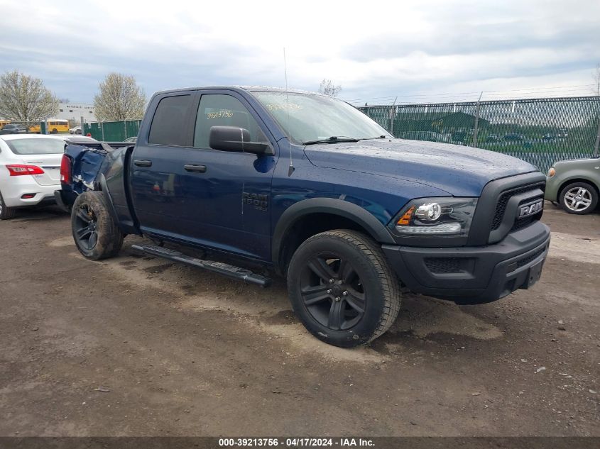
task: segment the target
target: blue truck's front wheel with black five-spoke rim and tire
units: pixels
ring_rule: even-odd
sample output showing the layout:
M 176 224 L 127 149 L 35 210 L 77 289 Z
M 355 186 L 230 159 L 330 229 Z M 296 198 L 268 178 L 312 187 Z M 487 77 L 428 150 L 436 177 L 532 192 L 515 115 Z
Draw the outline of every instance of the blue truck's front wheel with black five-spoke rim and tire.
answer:
M 312 335 L 351 348 L 385 333 L 400 310 L 398 278 L 366 235 L 327 231 L 292 256 L 288 291 L 295 314 Z

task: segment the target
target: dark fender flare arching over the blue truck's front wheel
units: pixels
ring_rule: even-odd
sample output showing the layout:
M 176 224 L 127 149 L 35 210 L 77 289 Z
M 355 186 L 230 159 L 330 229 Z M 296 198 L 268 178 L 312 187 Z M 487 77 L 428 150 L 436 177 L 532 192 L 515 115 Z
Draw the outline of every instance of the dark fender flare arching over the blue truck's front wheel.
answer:
M 357 204 L 337 198 L 310 198 L 303 199 L 285 209 L 281 214 L 273 232 L 273 245 L 271 245 L 271 260 L 276 267 L 279 265 L 281 243 L 289 229 L 302 217 L 309 214 L 332 214 L 348 218 L 358 224 L 371 235 L 378 243 L 394 245 L 391 233 L 381 221 L 373 214 Z

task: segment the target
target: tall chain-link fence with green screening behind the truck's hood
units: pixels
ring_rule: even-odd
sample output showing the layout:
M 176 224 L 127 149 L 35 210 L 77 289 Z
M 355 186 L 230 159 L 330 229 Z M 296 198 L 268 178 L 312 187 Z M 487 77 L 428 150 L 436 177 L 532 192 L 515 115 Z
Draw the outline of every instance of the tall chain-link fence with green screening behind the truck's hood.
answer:
M 542 172 L 598 156 L 600 96 L 362 106 L 398 138 L 469 145 L 519 157 Z

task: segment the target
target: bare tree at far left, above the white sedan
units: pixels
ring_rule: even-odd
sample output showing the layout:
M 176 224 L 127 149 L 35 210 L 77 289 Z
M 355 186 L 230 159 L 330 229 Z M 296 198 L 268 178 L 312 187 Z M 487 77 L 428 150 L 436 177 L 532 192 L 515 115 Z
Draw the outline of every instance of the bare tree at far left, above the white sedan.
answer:
M 26 126 L 52 118 L 58 113 L 58 99 L 39 78 L 5 72 L 0 77 L 0 116 Z

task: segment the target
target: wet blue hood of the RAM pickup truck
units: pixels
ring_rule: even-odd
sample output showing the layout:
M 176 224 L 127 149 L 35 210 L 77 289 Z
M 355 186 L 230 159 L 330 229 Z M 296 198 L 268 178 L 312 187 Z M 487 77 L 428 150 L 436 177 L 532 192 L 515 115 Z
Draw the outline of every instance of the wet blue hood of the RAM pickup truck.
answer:
M 493 179 L 538 171 L 528 162 L 461 145 L 381 139 L 305 147 L 317 167 L 405 179 L 453 196 L 479 196 Z

